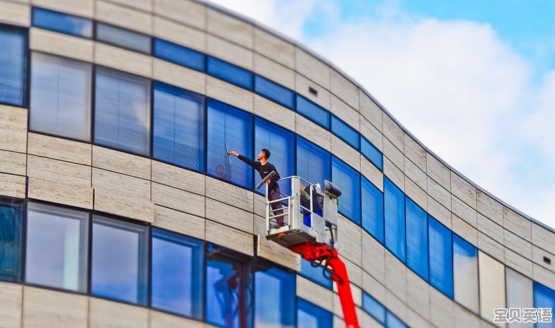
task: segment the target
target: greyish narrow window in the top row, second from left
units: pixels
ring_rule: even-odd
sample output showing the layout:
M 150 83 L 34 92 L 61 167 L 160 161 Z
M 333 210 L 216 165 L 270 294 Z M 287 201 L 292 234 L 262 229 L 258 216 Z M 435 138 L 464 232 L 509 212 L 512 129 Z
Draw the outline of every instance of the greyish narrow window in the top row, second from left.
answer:
M 151 53 L 151 37 L 107 24 L 96 23 L 96 40 L 142 53 Z

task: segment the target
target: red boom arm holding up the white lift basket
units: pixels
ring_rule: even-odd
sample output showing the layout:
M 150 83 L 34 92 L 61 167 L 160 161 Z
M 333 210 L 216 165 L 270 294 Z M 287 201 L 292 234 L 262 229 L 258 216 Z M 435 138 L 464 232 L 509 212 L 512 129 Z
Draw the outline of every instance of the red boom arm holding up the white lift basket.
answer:
M 337 284 L 345 326 L 347 328 L 360 328 L 357 311 L 355 311 L 355 302 L 352 300 L 347 269 L 343 261 L 339 259 L 337 250 L 328 245 L 312 245 L 308 242 L 291 246 L 290 249 L 300 254 L 307 261 L 326 261 L 327 266 L 330 266 L 333 271 L 332 279 Z

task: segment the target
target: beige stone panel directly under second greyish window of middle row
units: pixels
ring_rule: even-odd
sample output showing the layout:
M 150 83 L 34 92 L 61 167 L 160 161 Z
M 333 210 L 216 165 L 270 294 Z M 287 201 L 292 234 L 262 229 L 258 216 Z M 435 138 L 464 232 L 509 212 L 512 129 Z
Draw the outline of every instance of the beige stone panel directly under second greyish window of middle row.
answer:
M 151 159 L 92 146 L 92 166 L 133 177 L 151 180 Z

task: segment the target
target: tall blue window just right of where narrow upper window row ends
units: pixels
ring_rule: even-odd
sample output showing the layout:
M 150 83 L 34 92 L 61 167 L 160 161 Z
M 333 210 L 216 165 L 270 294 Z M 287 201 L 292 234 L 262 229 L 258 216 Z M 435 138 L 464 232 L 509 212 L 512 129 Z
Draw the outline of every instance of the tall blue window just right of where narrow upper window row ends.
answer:
M 384 176 L 386 248 L 405 262 L 404 193 Z

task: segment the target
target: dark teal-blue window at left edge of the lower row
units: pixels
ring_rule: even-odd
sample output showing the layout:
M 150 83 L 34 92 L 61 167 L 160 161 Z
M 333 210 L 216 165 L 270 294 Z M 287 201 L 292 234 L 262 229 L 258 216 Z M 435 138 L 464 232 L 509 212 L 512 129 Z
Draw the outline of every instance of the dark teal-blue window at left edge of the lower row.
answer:
M 23 201 L 0 196 L 0 280 L 22 277 Z

